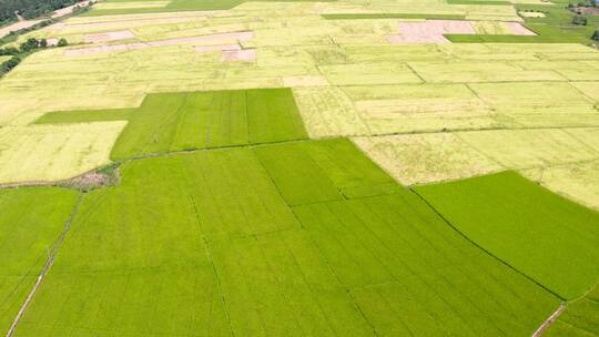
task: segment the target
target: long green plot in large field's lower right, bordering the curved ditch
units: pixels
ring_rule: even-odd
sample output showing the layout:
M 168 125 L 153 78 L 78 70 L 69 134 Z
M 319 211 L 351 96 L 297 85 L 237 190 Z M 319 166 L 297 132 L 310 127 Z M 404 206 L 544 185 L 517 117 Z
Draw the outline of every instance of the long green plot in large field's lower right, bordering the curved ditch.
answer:
M 415 195 L 294 212 L 378 336 L 526 336 L 558 305 L 455 233 Z

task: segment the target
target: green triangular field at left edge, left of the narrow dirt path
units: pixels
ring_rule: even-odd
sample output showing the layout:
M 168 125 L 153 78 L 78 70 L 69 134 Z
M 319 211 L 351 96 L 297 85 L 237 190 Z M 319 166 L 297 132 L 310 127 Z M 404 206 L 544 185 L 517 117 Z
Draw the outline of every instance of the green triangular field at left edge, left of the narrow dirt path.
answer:
M 0 329 L 8 331 L 77 201 L 55 187 L 0 191 Z

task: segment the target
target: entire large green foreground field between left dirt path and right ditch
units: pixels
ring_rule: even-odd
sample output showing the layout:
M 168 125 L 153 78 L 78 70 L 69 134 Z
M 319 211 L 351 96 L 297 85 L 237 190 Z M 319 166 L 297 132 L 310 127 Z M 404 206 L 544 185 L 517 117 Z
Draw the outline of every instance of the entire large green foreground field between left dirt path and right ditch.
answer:
M 14 336 L 527 336 L 558 305 L 347 140 L 120 171 L 84 198 Z

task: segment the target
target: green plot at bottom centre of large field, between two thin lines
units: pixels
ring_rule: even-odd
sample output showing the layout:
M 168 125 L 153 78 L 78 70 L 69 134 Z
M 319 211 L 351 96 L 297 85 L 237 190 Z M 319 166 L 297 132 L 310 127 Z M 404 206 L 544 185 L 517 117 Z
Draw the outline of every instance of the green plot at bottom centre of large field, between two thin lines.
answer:
M 236 336 L 373 336 L 304 231 L 210 245 Z

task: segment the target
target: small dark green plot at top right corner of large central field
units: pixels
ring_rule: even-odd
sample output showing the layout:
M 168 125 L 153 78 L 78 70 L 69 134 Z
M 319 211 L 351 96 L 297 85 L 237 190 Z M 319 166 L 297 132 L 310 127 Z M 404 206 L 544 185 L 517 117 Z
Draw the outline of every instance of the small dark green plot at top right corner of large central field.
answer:
M 261 146 L 254 152 L 290 205 L 402 191 L 345 139 Z

